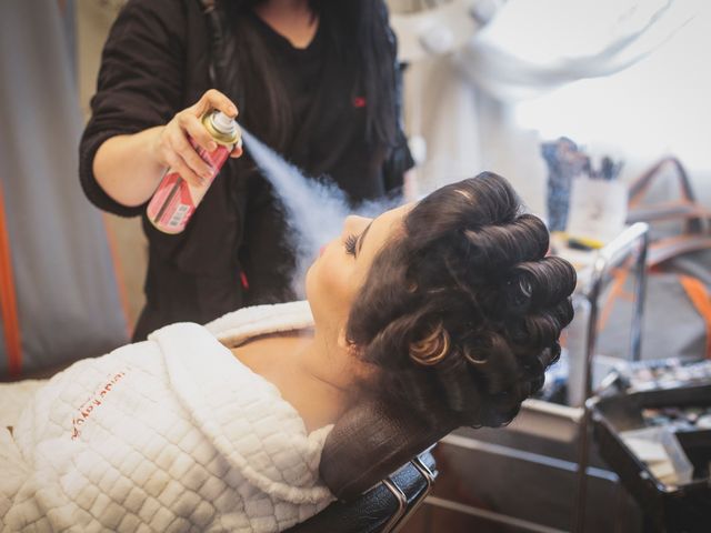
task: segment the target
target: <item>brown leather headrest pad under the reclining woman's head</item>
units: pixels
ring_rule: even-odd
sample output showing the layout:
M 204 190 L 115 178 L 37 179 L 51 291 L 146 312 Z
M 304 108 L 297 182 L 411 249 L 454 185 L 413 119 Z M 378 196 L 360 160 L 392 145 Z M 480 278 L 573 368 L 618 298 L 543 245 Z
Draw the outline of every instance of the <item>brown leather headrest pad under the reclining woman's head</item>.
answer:
M 432 426 L 407 419 L 381 403 L 359 403 L 329 434 L 321 479 L 339 500 L 357 499 L 454 428 L 448 421 Z

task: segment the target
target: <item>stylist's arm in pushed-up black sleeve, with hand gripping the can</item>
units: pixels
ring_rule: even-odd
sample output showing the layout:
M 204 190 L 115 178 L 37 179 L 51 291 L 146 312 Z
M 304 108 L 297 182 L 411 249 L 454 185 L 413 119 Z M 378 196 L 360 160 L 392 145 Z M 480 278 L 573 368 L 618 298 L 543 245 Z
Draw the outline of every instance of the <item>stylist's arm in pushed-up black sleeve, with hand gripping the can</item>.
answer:
M 162 0 L 129 2 L 103 50 L 80 175 L 89 199 L 117 214 L 138 214 L 169 167 L 190 184 L 202 184 L 209 167 L 188 137 L 209 150 L 213 141 L 201 114 L 212 108 L 230 117 L 238 112 L 217 90 L 181 109 L 184 58 L 177 43 L 186 24 L 173 8 Z M 232 155 L 240 154 L 238 147 Z

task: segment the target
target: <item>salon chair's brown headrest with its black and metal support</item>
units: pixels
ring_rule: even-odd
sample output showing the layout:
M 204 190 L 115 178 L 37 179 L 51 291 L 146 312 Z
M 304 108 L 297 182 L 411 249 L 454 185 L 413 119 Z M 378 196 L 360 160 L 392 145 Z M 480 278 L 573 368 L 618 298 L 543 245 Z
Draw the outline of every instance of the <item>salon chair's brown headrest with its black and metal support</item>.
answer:
M 414 514 L 437 470 L 430 449 L 455 424 L 437 428 L 395 416 L 384 405 L 351 409 L 329 434 L 320 473 L 338 497 L 288 533 L 388 533 Z

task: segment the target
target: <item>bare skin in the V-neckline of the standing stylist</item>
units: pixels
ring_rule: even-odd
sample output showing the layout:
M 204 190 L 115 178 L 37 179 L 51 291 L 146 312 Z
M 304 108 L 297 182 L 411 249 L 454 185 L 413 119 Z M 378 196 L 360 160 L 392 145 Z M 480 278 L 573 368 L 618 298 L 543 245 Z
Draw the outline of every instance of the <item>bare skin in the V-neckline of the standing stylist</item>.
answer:
M 254 12 L 294 48 L 307 48 L 319 28 L 308 0 L 267 0 Z

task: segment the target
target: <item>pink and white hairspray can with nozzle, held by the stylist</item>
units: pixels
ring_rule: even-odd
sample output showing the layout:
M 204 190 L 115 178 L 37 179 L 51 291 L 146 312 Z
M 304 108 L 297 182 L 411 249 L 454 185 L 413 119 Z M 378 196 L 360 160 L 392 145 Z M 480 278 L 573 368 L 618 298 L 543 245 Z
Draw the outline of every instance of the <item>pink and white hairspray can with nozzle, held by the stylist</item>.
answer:
M 212 167 L 212 172 L 203 187 L 192 187 L 178 172 L 168 169 L 147 209 L 148 220 L 164 233 L 180 233 L 186 229 L 192 213 L 240 140 L 239 125 L 234 119 L 230 119 L 221 111 L 208 111 L 202 115 L 201 121 L 218 148 L 210 152 L 200 148 L 192 139 L 190 143 Z

